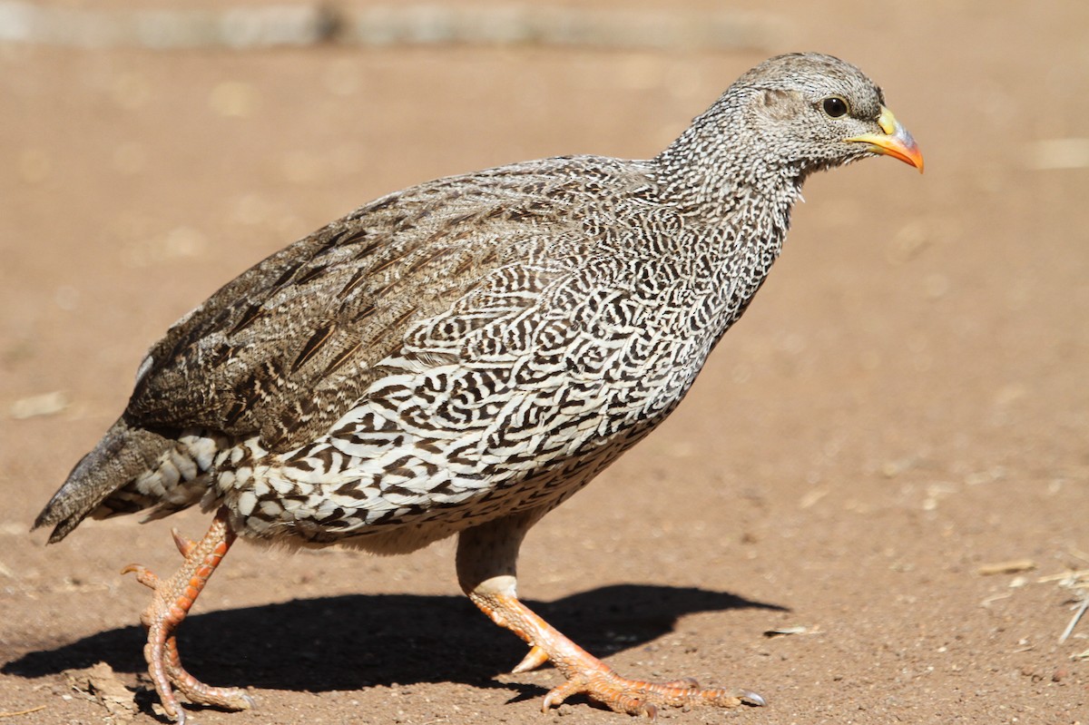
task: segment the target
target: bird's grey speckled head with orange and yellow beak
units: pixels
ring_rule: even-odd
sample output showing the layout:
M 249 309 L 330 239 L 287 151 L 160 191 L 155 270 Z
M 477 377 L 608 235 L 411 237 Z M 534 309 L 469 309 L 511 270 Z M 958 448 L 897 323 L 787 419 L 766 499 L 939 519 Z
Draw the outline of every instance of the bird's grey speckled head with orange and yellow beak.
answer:
M 723 99 L 732 95 L 742 99 L 745 122 L 764 152 L 802 176 L 879 153 L 922 171 L 919 147 L 885 108 L 881 89 L 837 58 L 772 58 L 738 78 Z

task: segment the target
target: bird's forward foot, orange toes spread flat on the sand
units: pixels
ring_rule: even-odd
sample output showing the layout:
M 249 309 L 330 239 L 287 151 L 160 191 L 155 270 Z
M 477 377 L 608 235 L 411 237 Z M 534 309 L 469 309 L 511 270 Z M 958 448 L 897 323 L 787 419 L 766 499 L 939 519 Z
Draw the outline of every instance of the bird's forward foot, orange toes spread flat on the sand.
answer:
M 572 695 L 579 693 L 615 712 L 646 715 L 651 720 L 658 715 L 660 706 L 684 708 L 702 704 L 736 708 L 742 703 L 766 704 L 763 698 L 756 692 L 742 689 L 701 689 L 692 678 L 665 683 L 627 679 L 617 675 L 600 660 L 587 656 L 589 661 L 576 664 L 575 672 L 568 675 L 566 683 L 544 696 L 541 710 L 547 711 L 549 708 L 558 706 Z

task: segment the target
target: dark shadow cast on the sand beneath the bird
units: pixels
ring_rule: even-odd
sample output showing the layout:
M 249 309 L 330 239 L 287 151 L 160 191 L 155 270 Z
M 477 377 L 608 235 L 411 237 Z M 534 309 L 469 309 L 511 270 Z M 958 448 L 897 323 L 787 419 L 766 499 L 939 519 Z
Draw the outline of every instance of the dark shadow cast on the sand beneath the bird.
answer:
M 530 605 L 599 655 L 646 644 L 686 614 L 784 609 L 726 592 L 649 585 L 602 587 Z M 210 612 L 188 617 L 178 638 L 186 667 L 215 684 L 310 692 L 439 681 L 523 689 L 493 677 L 526 653 L 525 644 L 463 597 L 353 594 Z M 28 652 L 0 672 L 44 677 L 101 661 L 117 672 L 144 672 L 143 641 L 139 627 L 111 629 Z

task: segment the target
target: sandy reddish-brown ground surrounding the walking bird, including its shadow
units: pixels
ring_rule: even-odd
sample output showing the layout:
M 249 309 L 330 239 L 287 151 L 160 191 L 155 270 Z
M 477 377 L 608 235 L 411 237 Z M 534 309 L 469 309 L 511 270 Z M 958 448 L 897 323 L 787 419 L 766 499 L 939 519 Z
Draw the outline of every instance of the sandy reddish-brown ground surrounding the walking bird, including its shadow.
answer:
M 1089 617 L 1059 643 L 1079 590 L 1052 576 L 1089 568 L 1089 169 L 1041 145 L 1086 135 L 1089 5 L 762 4 L 736 7 L 781 35 L 737 52 L 0 46 L 0 714 L 33 710 L 5 722 L 103 722 L 63 674 L 98 662 L 161 721 L 147 592 L 118 572 L 171 570 L 170 526 L 207 517 L 27 529 L 172 321 L 382 193 L 645 158 L 756 62 L 819 49 L 883 85 L 927 173 L 809 183 L 689 398 L 530 533 L 522 592 L 624 674 L 768 700 L 663 721 L 1089 723 Z M 201 724 L 626 722 L 539 712 L 558 673 L 502 674 L 524 648 L 461 597 L 451 542 L 238 545 L 181 647 L 258 701 Z

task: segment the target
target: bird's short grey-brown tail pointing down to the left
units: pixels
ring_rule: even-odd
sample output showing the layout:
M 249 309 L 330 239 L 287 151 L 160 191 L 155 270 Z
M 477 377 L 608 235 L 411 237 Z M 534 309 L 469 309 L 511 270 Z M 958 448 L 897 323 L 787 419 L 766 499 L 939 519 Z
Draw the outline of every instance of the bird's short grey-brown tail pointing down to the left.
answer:
M 123 418 L 118 420 L 95 450 L 75 465 L 64 486 L 38 514 L 34 528 L 52 526 L 49 543 L 60 541 L 112 493 L 154 469 L 170 446 L 171 441 L 162 435 L 131 428 Z

